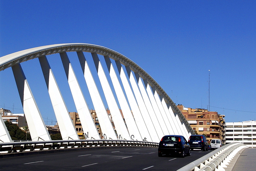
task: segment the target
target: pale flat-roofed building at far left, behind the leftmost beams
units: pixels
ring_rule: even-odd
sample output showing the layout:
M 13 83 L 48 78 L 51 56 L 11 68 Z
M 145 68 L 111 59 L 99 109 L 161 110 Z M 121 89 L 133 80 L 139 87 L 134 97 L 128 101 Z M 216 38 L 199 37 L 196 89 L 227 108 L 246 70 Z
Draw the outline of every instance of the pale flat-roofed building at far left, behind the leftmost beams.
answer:
M 12 113 L 10 110 L 0 108 L 0 114 L 4 121 L 9 121 L 17 124 L 18 127 L 28 126 L 24 113 Z

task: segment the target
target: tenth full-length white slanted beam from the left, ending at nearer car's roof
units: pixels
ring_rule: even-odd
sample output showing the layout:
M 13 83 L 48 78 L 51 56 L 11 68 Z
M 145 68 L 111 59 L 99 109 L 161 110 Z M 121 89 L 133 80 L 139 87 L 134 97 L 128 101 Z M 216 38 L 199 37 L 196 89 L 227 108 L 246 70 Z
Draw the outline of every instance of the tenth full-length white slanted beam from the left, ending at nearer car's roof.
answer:
M 163 131 L 164 135 L 170 135 L 170 133 L 169 133 L 169 131 L 167 129 L 166 123 L 165 123 L 165 121 L 163 119 L 162 113 L 160 112 L 159 107 L 158 107 L 158 105 L 156 103 L 154 94 L 152 93 L 151 86 L 148 84 L 147 80 L 143 80 L 143 81 L 144 81 L 144 85 L 145 85 L 146 90 L 147 90 L 148 97 L 149 97 L 150 102 L 152 104 L 152 107 L 153 107 L 153 109 L 155 111 L 157 120 L 158 120 L 158 122 L 159 122 L 159 124 L 160 124 L 160 126 L 162 128 L 162 131 Z M 162 139 L 162 137 L 160 137 L 160 138 Z

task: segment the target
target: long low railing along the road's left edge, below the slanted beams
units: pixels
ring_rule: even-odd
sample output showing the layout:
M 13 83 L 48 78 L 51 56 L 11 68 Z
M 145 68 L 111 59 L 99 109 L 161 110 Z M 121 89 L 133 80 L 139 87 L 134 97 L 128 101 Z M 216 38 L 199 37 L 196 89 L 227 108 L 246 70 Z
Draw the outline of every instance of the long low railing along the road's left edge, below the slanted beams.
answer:
M 104 146 L 148 146 L 157 147 L 159 143 L 127 140 L 52 140 L 0 143 L 0 153 L 17 153 L 65 148 L 104 147 Z

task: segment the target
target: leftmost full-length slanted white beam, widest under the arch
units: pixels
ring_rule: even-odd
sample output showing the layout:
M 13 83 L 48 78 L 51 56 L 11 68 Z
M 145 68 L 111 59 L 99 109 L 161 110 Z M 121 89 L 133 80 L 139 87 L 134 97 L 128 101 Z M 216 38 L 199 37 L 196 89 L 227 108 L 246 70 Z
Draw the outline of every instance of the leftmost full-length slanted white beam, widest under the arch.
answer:
M 20 64 L 12 66 L 12 70 L 32 141 L 51 140 Z

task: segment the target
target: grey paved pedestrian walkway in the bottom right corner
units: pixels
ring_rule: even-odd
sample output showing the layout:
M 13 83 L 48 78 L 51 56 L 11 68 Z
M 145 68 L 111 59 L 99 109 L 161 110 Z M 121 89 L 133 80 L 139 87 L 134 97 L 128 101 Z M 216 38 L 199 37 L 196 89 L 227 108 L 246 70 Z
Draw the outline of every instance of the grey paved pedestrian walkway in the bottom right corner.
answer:
M 239 155 L 240 154 L 240 155 Z M 256 148 L 241 149 L 225 170 L 255 170 Z

